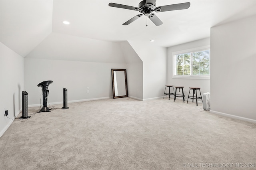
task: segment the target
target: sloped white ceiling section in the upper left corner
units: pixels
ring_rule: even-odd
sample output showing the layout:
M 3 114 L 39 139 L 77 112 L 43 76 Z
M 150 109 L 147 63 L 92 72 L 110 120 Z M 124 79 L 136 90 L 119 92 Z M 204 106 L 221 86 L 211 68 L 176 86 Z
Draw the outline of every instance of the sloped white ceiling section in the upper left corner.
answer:
M 52 32 L 52 0 L 1 0 L 0 3 L 0 40 L 22 57 Z

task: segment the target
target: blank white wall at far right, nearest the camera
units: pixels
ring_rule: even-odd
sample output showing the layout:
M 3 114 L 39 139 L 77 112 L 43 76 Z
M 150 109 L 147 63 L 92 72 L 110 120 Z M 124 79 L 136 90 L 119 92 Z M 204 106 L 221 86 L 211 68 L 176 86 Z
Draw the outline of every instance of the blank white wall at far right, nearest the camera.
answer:
M 211 28 L 211 112 L 256 122 L 256 16 Z

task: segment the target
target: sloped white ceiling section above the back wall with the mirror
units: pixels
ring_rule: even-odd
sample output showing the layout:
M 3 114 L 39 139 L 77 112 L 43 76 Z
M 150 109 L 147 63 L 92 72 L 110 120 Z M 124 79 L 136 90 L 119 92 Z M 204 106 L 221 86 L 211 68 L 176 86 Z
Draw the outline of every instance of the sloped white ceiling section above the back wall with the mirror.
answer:
M 51 33 L 26 58 L 125 63 L 120 43 Z

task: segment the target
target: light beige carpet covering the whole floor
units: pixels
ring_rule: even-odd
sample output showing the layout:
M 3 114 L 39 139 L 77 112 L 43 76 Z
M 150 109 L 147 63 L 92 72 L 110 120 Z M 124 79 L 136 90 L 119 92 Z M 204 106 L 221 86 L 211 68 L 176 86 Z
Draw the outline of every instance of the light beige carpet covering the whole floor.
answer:
M 1 170 L 256 166 L 256 124 L 205 112 L 202 104 L 127 97 L 55 107 L 35 115 L 38 107 L 29 108 L 30 119 L 15 119 L 0 138 Z

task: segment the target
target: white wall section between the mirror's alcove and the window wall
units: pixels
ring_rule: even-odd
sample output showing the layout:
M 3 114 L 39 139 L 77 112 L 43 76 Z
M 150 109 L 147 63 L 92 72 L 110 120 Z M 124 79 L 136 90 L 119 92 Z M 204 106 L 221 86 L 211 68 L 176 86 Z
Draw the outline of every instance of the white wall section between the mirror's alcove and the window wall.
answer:
M 150 42 L 129 43 L 143 61 L 143 100 L 162 97 L 162 87 L 166 84 L 167 49 Z

